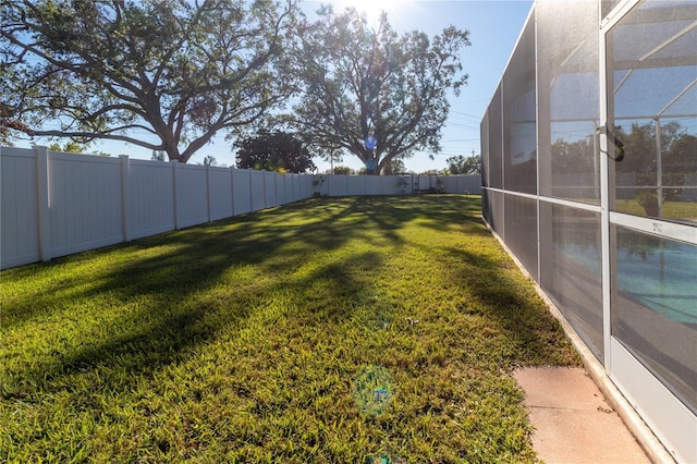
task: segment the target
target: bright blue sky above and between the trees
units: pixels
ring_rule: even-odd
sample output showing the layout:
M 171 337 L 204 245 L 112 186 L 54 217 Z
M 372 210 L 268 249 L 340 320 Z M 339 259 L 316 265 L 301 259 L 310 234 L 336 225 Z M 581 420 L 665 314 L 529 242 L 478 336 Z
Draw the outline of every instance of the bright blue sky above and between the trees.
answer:
M 325 1 L 326 3 L 327 1 Z M 368 21 L 377 21 L 381 10 L 388 13 L 393 28 L 399 33 L 418 29 L 433 36 L 453 25 L 469 32 L 472 46 L 461 51 L 463 71 L 469 75 L 460 97 L 451 95 L 450 115 L 442 130 L 442 151 L 429 159 L 428 152 L 416 152 L 404 160 L 408 171 L 424 172 L 447 168 L 447 158 L 479 155 L 479 122 L 493 91 L 503 74 L 506 62 L 517 41 L 533 1 L 531 0 L 332 0 L 335 9 L 353 5 L 366 13 Z M 313 19 L 320 1 L 305 0 L 302 3 Z M 189 163 L 200 163 L 211 155 L 221 166 L 234 166 L 234 152 L 225 134 L 218 134 L 212 144 L 195 154 Z M 34 141 L 48 145 L 46 141 Z M 62 141 L 59 141 L 62 142 Z M 17 143 L 29 146 L 29 143 Z M 90 146 L 96 151 L 111 156 L 129 155 L 136 159 L 150 159 L 151 150 L 123 142 L 97 142 Z M 319 172 L 329 169 L 329 163 L 314 159 Z M 355 156 L 344 156 L 343 166 L 362 168 Z

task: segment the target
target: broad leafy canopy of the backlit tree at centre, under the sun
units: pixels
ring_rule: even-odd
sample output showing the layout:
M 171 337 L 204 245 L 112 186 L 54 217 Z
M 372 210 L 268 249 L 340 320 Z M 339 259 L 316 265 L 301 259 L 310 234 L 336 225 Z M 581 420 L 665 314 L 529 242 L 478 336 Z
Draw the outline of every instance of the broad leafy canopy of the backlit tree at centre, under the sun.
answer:
M 438 152 L 449 91 L 458 95 L 467 80 L 460 51 L 468 35 L 448 27 L 432 38 L 400 36 L 384 13 L 371 28 L 355 9 L 326 9 L 302 34 L 304 91 L 291 120 L 314 144 L 375 163 L 374 174 L 415 150 Z

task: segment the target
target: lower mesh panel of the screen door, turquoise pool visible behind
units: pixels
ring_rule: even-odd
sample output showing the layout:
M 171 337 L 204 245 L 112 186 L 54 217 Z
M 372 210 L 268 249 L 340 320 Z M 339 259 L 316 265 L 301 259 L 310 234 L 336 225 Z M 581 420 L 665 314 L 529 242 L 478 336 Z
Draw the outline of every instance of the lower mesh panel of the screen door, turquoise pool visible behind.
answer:
M 612 232 L 612 334 L 697 413 L 697 246 Z

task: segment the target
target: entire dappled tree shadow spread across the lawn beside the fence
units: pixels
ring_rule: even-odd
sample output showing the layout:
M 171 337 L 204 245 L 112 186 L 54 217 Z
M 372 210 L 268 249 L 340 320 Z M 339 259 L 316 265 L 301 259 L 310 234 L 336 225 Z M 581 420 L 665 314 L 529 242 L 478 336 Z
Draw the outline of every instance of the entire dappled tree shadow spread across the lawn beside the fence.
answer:
M 28 376 L 37 384 L 46 386 L 50 379 L 101 367 L 106 371 L 146 373 L 182 359 L 185 353 L 233 325 L 243 327 L 252 302 L 262 301 L 279 286 L 304 295 L 308 321 L 325 323 L 351 317 L 351 307 L 328 302 L 371 286 L 369 271 L 382 264 L 378 253 L 348 254 L 341 262 L 322 264 L 302 278 L 290 276 L 311 261 L 318 251 L 331 252 L 353 240 L 369 241 L 376 231 L 388 243 L 399 244 L 399 230 L 405 222 L 424 218 L 447 222 L 463 205 L 472 208 L 472 202 L 447 196 L 428 200 L 423 197 L 311 200 L 35 265 L 13 271 L 13 279 L 32 279 L 35 273 L 72 266 L 84 266 L 84 271 L 66 279 L 60 276 L 47 279 L 41 294 L 14 300 L 14 307 L 4 308 L 3 326 L 5 330 L 12 326 L 22 330 L 22 321 L 76 302 L 88 306 L 88 302 L 99 301 L 105 304 L 105 312 L 110 308 L 121 312 L 110 319 L 95 320 L 93 329 L 102 338 L 78 346 L 57 346 L 54 355 L 29 361 L 36 367 L 29 369 Z M 439 208 L 449 212 L 440 212 Z M 310 220 L 298 221 L 302 215 L 309 215 Z M 90 260 L 105 256 L 109 265 L 93 270 Z M 260 281 L 235 293 L 235 282 L 224 276 L 245 267 L 252 267 L 260 276 L 281 278 Z M 220 302 L 194 297 L 221 285 L 231 286 L 223 307 Z M 134 304 L 139 301 L 145 303 Z M 101 327 L 105 323 L 111 327 Z M 85 333 L 85 337 L 94 335 Z M 24 391 L 11 390 L 3 395 L 22 396 Z

